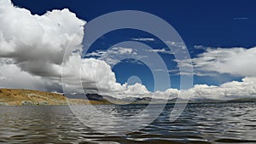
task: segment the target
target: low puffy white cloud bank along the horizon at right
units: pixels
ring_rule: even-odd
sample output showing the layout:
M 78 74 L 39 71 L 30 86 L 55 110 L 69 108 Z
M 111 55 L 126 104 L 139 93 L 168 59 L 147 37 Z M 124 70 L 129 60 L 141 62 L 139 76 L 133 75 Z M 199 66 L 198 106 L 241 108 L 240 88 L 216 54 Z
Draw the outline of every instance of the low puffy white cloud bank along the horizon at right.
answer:
M 143 94 L 142 94 L 143 95 Z M 178 90 L 166 89 L 166 91 L 150 92 L 144 96 L 153 96 L 159 99 L 169 99 L 180 97 L 182 99 L 198 100 L 198 99 L 212 99 L 212 100 L 232 100 L 238 98 L 256 97 L 256 78 L 246 77 L 242 78 L 241 82 L 233 81 L 219 86 L 196 84 L 191 89 Z

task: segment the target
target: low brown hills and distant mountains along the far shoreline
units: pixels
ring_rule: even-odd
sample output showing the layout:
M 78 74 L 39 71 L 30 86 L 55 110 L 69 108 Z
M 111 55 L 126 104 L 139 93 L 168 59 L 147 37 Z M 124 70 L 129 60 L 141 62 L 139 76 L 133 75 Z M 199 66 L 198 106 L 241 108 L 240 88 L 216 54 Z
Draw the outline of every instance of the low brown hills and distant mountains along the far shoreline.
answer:
M 67 105 L 68 104 L 154 104 L 166 103 L 166 100 L 154 99 L 150 97 L 135 98 L 127 97 L 117 99 L 108 95 L 97 94 L 66 94 L 43 92 L 28 89 L 0 89 L 0 105 L 4 106 L 36 106 L 36 105 Z M 168 100 L 167 103 L 175 103 L 177 99 Z M 180 100 L 180 103 L 186 100 Z M 234 99 L 230 101 L 218 101 L 212 99 L 189 100 L 189 103 L 217 103 L 217 102 L 256 102 L 256 98 Z

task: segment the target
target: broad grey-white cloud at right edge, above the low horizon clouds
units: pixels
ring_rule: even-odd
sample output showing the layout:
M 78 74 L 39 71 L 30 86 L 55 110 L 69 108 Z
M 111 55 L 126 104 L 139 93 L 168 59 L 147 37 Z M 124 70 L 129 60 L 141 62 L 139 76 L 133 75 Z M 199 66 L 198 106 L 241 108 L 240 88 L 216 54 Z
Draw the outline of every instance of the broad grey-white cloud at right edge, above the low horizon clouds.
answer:
M 192 59 L 195 72 L 203 74 L 218 72 L 228 73 L 233 76 L 255 77 L 256 47 L 245 48 L 207 48 L 204 53 Z M 188 66 L 189 60 L 179 63 Z

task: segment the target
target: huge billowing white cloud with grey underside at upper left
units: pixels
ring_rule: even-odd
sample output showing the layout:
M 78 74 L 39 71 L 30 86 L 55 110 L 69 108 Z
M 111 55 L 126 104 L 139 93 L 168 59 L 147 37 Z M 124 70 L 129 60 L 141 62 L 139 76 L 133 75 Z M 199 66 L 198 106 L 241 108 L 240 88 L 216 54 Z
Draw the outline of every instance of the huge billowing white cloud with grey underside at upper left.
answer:
M 68 9 L 32 15 L 1 1 L 0 57 L 14 60 L 21 71 L 55 77 L 60 75 L 55 67 L 61 65 L 67 44 L 81 49 L 84 24 Z

